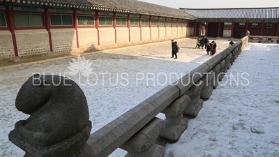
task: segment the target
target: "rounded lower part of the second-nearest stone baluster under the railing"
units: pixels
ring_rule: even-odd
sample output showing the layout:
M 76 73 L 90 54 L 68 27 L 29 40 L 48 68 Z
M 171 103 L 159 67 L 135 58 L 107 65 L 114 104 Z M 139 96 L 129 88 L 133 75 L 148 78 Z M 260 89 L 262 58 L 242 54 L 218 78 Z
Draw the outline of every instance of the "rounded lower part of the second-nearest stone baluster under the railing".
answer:
M 165 128 L 160 133 L 160 137 L 167 138 L 169 140 L 179 140 L 179 137 L 184 130 L 188 127 L 188 119 L 181 119 L 180 124 L 165 124 Z

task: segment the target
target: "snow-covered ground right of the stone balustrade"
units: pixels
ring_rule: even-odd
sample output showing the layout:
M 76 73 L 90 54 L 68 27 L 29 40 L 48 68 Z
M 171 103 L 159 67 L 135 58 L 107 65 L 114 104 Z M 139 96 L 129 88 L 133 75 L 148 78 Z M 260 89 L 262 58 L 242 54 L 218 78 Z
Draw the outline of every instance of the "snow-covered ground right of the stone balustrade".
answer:
M 165 157 L 278 157 L 278 71 L 279 45 L 249 43 Z

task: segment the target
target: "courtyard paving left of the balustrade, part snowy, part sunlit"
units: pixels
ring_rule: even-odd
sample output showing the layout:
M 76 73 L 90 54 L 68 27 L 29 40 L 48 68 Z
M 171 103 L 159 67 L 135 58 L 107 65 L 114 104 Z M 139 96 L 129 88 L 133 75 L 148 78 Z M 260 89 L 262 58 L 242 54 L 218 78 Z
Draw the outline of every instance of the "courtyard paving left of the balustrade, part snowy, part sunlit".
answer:
M 86 55 L 84 59 L 91 63 L 89 68 L 92 68 L 91 72 L 96 73 L 96 76 L 87 75 L 86 70 L 80 71 L 82 75 L 66 75 L 77 82 L 84 91 L 92 121 L 91 133 L 211 59 L 204 49 L 193 48 L 196 39 L 186 38 L 177 42 L 181 47 L 179 59 L 170 58 L 170 41 L 151 43 Z M 216 43 L 218 53 L 227 48 L 229 42 L 227 39 L 218 39 Z M 77 60 L 77 57 L 73 59 Z M 15 108 L 15 97 L 22 84 L 33 73 L 41 75 L 70 73 L 71 70 L 68 68 L 71 66 L 70 63 L 73 63 L 72 59 L 63 59 L 0 70 L 0 156 L 24 154 L 8 140 L 8 133 L 13 130 L 15 123 L 28 118 L 27 114 Z M 107 75 L 104 77 L 102 73 Z M 126 73 L 124 75 L 126 80 L 122 79 L 119 82 L 120 73 Z M 137 75 L 138 73 L 142 75 Z M 148 80 L 147 73 L 156 75 L 156 81 Z M 159 75 L 160 73 L 165 73 L 169 77 L 165 78 Z M 170 76 L 171 73 L 177 75 Z M 107 77 L 108 75 L 110 77 Z M 141 77 L 141 80 L 137 80 L 137 77 Z

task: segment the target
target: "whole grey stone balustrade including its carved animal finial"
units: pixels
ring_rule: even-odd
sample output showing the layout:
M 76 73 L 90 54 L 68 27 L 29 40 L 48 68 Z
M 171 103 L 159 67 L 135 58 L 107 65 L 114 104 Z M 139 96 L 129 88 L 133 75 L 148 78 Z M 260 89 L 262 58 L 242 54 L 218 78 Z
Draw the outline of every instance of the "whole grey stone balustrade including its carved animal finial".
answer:
M 29 79 L 19 91 L 15 105 L 18 110 L 30 114 L 31 117 L 26 121 L 17 122 L 15 130 L 9 134 L 9 139 L 26 152 L 25 157 L 104 157 L 112 154 L 117 148 L 128 151 L 126 157 L 161 157 L 164 155 L 164 147 L 156 144 L 157 138 L 160 136 L 173 141 L 179 139 L 188 126 L 185 115 L 197 116 L 202 108 L 202 99 L 211 96 L 213 89 L 218 87 L 218 82 L 223 79 L 224 74 L 247 44 L 248 36 L 90 136 L 91 121 L 88 107 L 83 92 L 75 82 L 70 82 L 75 85 L 75 94 L 70 87 L 59 87 L 63 89 L 61 91 L 64 94 L 61 96 L 65 98 L 60 97 L 61 100 L 58 101 L 54 92 L 58 89 L 33 87 Z M 23 94 L 22 91 L 29 90 L 30 94 L 36 91 L 45 97 L 38 99 L 30 96 L 31 99 L 22 99 L 26 98 L 24 94 L 27 94 L 27 92 Z M 83 100 L 81 108 L 80 103 L 75 103 L 75 100 Z M 63 105 L 63 101 L 67 101 L 67 105 Z M 38 110 L 40 112 L 37 112 Z M 165 120 L 155 118 L 160 112 L 165 114 Z M 79 121 L 77 124 L 80 125 L 75 126 L 73 121 Z M 59 129 L 56 130 L 56 127 Z M 29 136 L 33 136 L 31 140 Z

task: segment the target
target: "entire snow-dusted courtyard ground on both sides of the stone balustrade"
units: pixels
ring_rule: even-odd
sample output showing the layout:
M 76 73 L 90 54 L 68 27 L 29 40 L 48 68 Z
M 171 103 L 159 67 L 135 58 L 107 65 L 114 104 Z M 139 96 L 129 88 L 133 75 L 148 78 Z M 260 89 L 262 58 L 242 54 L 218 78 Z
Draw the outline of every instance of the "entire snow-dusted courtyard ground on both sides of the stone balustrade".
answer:
M 66 75 L 80 84 L 94 133 L 211 58 L 204 50 L 193 49 L 195 40 L 178 41 L 181 50 L 176 60 L 170 58 L 170 42 L 163 42 L 85 56 L 91 64 L 80 75 L 74 73 L 77 58 L 0 71 L 0 156 L 24 155 L 8 140 L 8 133 L 17 121 L 28 117 L 15 108 L 15 97 L 33 73 Z M 227 47 L 226 40 L 217 42 L 218 51 Z M 248 44 L 227 76 L 248 73 L 249 84 L 218 86 L 197 117 L 190 119 L 179 141 L 167 144 L 165 156 L 279 156 L 278 48 Z M 163 114 L 158 117 L 164 118 Z M 110 156 L 124 154 L 117 149 Z

